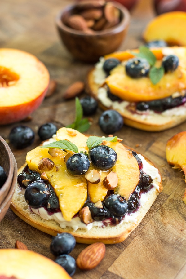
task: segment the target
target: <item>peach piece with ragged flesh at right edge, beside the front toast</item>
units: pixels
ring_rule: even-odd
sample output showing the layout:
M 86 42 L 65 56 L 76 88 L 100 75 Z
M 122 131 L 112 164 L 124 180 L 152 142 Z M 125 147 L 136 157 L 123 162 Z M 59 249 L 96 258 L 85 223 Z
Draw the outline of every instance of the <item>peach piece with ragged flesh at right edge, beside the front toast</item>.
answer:
M 174 135 L 167 141 L 166 160 L 170 165 L 173 165 L 174 168 L 182 169 L 184 175 L 186 175 L 186 131 Z M 186 204 L 186 189 L 183 201 Z

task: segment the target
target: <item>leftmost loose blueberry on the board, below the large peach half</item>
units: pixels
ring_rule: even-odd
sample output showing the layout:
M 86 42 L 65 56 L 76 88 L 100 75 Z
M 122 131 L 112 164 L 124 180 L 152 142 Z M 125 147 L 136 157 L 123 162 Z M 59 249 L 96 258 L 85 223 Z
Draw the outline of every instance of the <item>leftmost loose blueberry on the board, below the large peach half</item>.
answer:
M 9 134 L 10 143 L 17 149 L 23 149 L 31 145 L 34 138 L 33 130 L 23 125 L 14 127 Z

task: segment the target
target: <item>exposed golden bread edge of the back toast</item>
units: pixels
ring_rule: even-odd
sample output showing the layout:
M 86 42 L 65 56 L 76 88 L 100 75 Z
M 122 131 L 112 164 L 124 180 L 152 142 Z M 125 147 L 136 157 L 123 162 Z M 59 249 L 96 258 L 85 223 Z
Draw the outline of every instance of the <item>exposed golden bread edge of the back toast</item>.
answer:
M 104 106 L 104 104 L 102 104 L 101 101 L 98 99 L 99 85 L 95 84 L 94 82 L 93 72 L 94 68 L 91 69 L 87 75 L 87 92 L 98 101 L 100 108 L 102 108 L 103 110 L 114 109 L 112 106 L 109 108 Z M 170 129 L 184 122 L 186 120 L 186 107 L 184 108 L 185 112 L 182 115 L 162 116 L 160 113 L 158 113 L 155 116 L 150 116 L 146 119 L 139 118 L 137 114 L 132 114 L 127 109 L 125 109 L 125 111 L 121 111 L 119 109 L 116 110 L 122 115 L 124 124 L 144 131 L 159 132 Z

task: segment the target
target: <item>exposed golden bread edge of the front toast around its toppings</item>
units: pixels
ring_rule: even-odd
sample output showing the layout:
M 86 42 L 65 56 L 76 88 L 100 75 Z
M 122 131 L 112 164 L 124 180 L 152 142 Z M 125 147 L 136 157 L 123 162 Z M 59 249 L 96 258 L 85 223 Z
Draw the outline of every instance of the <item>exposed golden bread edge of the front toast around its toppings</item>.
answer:
M 129 148 L 126 145 L 124 146 L 126 148 Z M 148 160 L 148 158 L 146 157 L 144 158 L 148 161 L 150 165 L 156 167 L 150 160 Z M 22 166 L 18 170 L 18 174 L 22 172 L 24 166 Z M 161 177 L 160 172 L 159 175 Z M 139 210 L 137 211 L 138 216 L 136 218 L 136 221 L 135 222 L 130 221 L 128 223 L 122 223 L 122 224 L 119 223 L 116 226 L 108 225 L 107 227 L 106 226 L 93 227 L 89 231 L 79 228 L 75 232 L 70 227 L 66 227 L 65 229 L 63 229 L 54 220 L 45 220 L 42 219 L 38 214 L 33 213 L 32 210 L 29 208 L 29 206 L 26 204 L 24 200 L 24 195 L 22 194 L 20 187 L 18 185 L 15 188 L 15 193 L 12 198 L 11 210 L 29 225 L 53 236 L 55 236 L 57 233 L 69 232 L 75 237 L 76 241 L 79 243 L 91 244 L 97 241 L 101 241 L 105 244 L 119 243 L 124 241 L 126 237 L 139 225 L 139 223 L 144 218 L 149 208 L 152 206 L 158 194 L 162 191 L 163 189 L 162 179 L 161 181 L 154 181 L 154 182 L 159 186 L 159 190 L 152 188 L 148 192 L 149 198 L 145 202 L 144 206 L 140 207 Z

